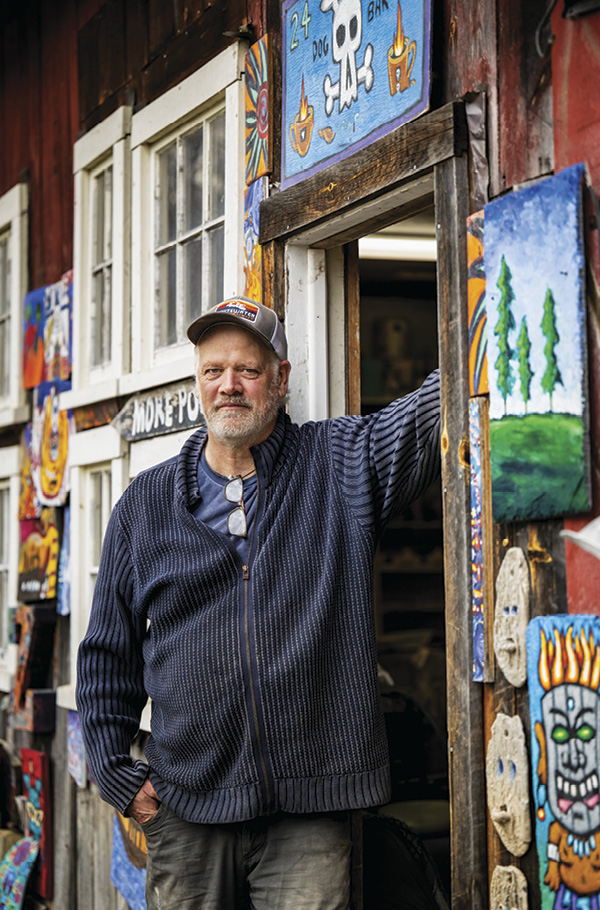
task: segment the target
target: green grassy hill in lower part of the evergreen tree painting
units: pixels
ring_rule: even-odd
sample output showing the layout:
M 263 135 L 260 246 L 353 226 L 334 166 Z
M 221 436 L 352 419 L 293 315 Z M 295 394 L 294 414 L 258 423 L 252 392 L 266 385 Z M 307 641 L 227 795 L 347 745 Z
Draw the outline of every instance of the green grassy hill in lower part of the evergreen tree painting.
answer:
M 528 414 L 490 420 L 490 449 L 495 521 L 590 508 L 581 417 Z

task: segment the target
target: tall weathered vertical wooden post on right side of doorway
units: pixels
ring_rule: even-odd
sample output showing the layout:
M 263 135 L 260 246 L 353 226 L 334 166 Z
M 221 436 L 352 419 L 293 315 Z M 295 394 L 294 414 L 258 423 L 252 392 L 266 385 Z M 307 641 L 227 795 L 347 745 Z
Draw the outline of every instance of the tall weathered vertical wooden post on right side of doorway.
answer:
M 487 907 L 482 686 L 472 681 L 466 156 L 435 168 L 452 906 Z

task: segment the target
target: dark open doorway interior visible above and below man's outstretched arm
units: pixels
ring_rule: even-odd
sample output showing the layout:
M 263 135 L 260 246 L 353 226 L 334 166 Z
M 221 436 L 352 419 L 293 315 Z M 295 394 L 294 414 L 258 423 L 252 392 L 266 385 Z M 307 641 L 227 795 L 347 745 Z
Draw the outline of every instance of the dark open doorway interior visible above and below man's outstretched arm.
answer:
M 433 206 L 359 240 L 361 411 L 438 366 Z M 374 602 L 392 769 L 382 814 L 422 839 L 450 892 L 442 494 L 438 480 L 387 527 Z

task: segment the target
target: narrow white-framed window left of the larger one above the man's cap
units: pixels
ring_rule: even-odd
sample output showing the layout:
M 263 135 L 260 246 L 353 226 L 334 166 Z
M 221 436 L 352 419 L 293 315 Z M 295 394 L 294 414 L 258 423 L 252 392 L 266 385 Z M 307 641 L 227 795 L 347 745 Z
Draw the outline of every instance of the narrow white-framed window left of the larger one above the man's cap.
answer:
M 73 392 L 69 406 L 117 394 L 129 370 L 131 108 L 73 149 Z

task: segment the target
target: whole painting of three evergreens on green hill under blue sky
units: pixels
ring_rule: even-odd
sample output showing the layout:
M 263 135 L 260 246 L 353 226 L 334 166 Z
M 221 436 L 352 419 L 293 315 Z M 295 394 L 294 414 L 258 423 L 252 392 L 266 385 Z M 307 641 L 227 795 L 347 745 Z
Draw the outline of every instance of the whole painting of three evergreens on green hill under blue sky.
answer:
M 495 521 L 590 508 L 581 164 L 485 207 Z

